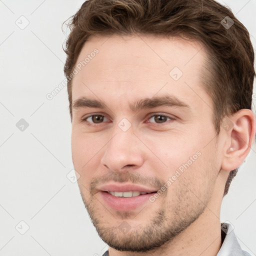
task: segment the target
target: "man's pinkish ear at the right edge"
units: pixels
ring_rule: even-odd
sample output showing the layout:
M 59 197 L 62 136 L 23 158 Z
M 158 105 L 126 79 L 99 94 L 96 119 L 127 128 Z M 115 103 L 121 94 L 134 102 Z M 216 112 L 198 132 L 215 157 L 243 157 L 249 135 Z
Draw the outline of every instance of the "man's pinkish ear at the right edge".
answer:
M 250 109 L 240 109 L 222 124 L 226 134 L 221 169 L 233 170 L 239 167 L 248 155 L 255 137 L 255 116 Z

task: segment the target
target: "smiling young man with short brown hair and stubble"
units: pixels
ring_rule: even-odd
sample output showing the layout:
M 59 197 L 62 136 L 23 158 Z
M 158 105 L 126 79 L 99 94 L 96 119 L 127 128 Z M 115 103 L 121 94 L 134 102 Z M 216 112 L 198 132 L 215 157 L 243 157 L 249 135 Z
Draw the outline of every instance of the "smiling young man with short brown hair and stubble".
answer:
M 249 255 L 220 206 L 255 134 L 253 48 L 213 0 L 88 0 L 64 67 L 104 255 Z

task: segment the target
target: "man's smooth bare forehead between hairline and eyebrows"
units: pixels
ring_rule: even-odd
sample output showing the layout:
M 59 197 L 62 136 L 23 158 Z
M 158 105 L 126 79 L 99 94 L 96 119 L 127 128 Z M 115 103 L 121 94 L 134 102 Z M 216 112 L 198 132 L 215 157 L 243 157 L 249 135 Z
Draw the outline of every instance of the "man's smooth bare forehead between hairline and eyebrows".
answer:
M 97 94 L 121 98 L 119 103 L 123 104 L 125 98 L 168 92 L 198 104 L 198 90 L 203 90 L 201 96 L 210 101 L 201 79 L 206 57 L 200 42 L 181 37 L 92 36 L 76 61 L 72 101 L 81 96 L 95 99 Z

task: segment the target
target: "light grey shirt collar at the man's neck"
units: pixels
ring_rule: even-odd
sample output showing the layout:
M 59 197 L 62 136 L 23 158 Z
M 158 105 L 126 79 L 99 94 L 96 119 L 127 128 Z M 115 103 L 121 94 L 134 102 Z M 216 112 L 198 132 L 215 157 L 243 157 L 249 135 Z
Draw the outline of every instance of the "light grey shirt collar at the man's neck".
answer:
M 251 256 L 247 251 L 241 249 L 231 224 L 221 223 L 221 240 L 222 245 L 216 256 Z M 108 250 L 102 256 L 109 256 Z

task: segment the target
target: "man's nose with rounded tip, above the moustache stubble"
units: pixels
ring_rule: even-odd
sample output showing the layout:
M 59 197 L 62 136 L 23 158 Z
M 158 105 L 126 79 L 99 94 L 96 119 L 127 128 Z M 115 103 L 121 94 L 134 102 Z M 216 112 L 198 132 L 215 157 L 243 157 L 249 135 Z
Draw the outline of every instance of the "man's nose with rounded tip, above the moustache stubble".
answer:
M 133 133 L 132 127 L 122 131 L 118 126 L 111 132 L 109 141 L 100 160 L 101 164 L 113 171 L 135 169 L 143 164 L 143 146 Z

